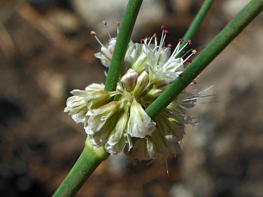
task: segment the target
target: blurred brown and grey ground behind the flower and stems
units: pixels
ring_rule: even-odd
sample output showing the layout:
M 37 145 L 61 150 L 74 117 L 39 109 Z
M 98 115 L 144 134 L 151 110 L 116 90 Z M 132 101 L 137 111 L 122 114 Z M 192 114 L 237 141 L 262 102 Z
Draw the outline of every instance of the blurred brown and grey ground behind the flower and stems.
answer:
M 169 30 L 183 37 L 202 0 L 145 0 L 133 41 Z M 215 1 L 192 47 L 200 52 L 247 4 Z M 104 83 L 94 54 L 107 45 L 127 0 L 0 1 L 0 195 L 51 196 L 84 147 L 83 125 L 63 113 L 72 89 Z M 197 79 L 214 85 L 188 114 L 182 152 L 151 164 L 119 154 L 104 161 L 76 196 L 262 196 L 263 15 L 260 14 Z M 175 44 L 173 44 L 175 45 Z M 148 165 L 149 164 L 149 165 Z

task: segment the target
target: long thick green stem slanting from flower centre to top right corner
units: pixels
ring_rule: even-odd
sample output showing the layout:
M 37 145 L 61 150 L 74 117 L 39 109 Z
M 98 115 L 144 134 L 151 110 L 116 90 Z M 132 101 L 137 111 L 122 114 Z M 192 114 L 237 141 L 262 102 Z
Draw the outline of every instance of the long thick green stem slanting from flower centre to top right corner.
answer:
M 185 69 L 183 76 L 174 80 L 146 109 L 148 116 L 154 118 L 166 108 L 262 10 L 263 0 L 250 1 Z

